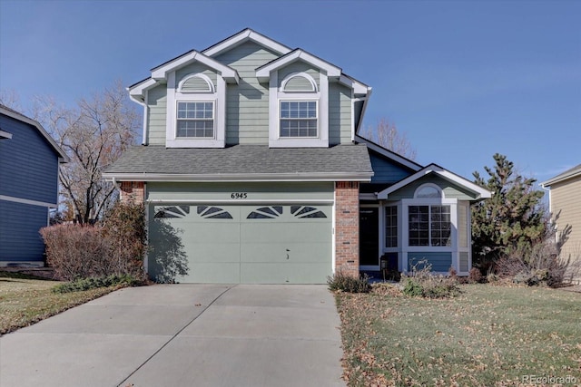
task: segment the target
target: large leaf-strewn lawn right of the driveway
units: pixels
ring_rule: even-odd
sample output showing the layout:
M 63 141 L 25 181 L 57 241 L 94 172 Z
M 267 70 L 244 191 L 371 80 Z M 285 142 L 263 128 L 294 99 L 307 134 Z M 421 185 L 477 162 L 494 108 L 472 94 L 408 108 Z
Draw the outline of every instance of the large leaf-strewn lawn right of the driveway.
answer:
M 395 288 L 338 293 L 348 384 L 581 384 L 581 294 L 494 285 L 462 291 L 436 300 Z

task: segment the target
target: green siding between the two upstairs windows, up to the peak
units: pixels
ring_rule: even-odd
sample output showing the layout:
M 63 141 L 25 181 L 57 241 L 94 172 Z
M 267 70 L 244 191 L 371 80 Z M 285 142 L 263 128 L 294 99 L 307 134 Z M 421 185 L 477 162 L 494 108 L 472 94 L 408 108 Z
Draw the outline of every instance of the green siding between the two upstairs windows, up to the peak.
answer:
M 246 42 L 214 58 L 241 77 L 239 84 L 227 85 L 227 144 L 268 144 L 269 85 L 258 82 L 256 69 L 278 57 L 259 44 Z

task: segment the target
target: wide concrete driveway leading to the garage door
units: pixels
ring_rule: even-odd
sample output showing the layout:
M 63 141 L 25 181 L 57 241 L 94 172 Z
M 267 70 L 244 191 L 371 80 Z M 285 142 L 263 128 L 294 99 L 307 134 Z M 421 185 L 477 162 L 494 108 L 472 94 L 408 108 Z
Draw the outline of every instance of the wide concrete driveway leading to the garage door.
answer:
M 153 285 L 0 337 L 0 386 L 333 386 L 324 285 Z

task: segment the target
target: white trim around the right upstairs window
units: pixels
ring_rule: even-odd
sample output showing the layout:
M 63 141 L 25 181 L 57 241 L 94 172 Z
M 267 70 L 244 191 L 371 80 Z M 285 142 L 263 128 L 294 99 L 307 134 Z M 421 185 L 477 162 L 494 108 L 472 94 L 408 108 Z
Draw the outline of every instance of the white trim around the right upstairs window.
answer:
M 281 83 L 286 84 L 292 77 L 312 77 L 307 73 L 291 73 Z M 315 83 L 316 86 L 316 83 Z M 317 90 L 317 89 L 315 89 Z M 280 136 L 280 101 L 315 101 L 318 100 L 318 136 L 316 138 L 295 138 Z M 279 73 L 272 71 L 269 81 L 269 147 L 271 148 L 327 148 L 329 147 L 329 79 L 327 74 L 319 74 L 317 92 L 284 92 L 279 88 Z

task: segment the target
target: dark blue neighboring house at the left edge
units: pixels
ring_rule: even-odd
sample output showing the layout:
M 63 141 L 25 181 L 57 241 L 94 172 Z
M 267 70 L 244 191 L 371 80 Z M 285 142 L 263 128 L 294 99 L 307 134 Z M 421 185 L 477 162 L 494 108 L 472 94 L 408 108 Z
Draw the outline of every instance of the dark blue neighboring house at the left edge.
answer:
M 38 231 L 57 206 L 66 161 L 40 123 L 0 105 L 0 266 L 44 266 Z

